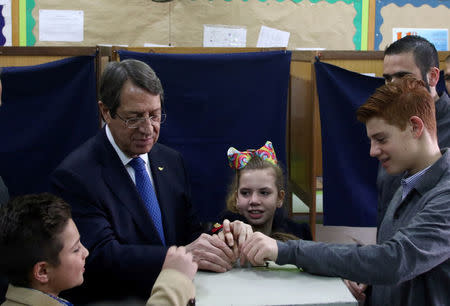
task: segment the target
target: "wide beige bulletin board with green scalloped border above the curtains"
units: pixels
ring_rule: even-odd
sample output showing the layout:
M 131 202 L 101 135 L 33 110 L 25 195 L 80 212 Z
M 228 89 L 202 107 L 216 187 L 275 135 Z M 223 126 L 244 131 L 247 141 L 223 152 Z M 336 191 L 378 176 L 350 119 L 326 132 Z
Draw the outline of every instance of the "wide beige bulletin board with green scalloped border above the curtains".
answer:
M 364 0 L 365 1 L 365 0 Z M 256 47 L 262 25 L 290 32 L 288 48 L 360 50 L 361 0 L 26 0 L 27 27 L 36 46 L 129 45 L 144 43 L 201 47 L 203 26 L 247 29 L 247 47 Z M 39 10 L 83 10 L 84 41 L 39 41 Z M 28 31 L 30 33 L 30 31 Z M 28 40 L 27 40 L 28 41 Z M 32 39 L 30 40 L 32 41 Z

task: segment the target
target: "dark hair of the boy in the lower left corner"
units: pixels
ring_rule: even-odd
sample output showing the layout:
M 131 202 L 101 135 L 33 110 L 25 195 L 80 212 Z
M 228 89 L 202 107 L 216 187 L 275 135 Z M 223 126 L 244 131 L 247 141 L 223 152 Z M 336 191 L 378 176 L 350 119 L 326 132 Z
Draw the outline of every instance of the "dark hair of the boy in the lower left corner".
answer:
M 36 263 L 59 265 L 64 244 L 58 235 L 70 218 L 69 204 L 50 193 L 18 196 L 0 207 L 0 274 L 29 287 Z

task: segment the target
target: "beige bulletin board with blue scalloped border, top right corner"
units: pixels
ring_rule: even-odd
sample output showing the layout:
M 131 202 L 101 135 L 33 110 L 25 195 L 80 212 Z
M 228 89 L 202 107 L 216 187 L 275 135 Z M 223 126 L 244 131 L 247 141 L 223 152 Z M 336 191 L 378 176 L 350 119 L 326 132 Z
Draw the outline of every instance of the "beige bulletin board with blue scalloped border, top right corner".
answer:
M 449 0 L 377 0 L 376 4 L 375 50 L 392 43 L 392 28 L 450 28 Z

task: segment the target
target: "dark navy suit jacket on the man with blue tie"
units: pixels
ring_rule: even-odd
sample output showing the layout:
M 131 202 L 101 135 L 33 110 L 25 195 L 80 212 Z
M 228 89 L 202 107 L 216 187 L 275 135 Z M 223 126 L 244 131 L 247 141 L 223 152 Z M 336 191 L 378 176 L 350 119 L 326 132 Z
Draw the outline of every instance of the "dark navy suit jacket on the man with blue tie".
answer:
M 181 155 L 161 144 L 148 154 L 167 247 L 201 232 L 192 210 Z M 105 129 L 72 152 L 52 174 L 52 189 L 72 206 L 88 248 L 85 282 L 67 297 L 74 303 L 139 297 L 146 300 L 167 247 Z

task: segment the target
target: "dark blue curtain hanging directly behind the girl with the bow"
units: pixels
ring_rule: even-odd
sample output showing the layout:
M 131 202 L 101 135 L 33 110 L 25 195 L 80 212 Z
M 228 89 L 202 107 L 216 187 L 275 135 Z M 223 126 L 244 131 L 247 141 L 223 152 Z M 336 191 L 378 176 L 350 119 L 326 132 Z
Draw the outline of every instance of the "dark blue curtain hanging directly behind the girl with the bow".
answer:
M 216 221 L 234 172 L 228 147 L 273 142 L 286 165 L 286 101 L 291 53 L 150 54 L 119 51 L 148 63 L 165 90 L 159 142 L 184 156 L 202 221 Z

